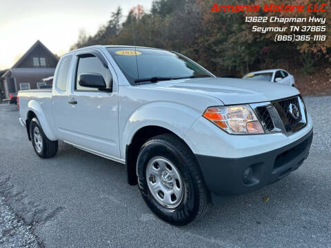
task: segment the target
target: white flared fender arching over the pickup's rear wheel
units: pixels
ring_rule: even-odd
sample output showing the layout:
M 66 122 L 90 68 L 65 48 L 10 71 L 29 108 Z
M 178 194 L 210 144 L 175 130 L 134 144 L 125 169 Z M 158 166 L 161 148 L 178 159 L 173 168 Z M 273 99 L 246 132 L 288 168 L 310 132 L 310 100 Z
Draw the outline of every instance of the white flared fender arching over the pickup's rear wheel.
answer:
M 43 129 L 44 134 L 47 136 L 47 138 L 50 141 L 56 141 L 57 138 L 54 135 L 54 132 L 52 132 L 52 129 L 50 128 L 50 125 L 47 121 L 47 118 L 43 112 L 43 109 L 41 108 L 41 105 L 34 100 L 29 101 L 28 103 L 28 111 L 27 111 L 27 116 L 26 120 L 28 119 L 28 113 L 29 111 L 34 112 L 34 114 L 37 116 L 39 123 Z

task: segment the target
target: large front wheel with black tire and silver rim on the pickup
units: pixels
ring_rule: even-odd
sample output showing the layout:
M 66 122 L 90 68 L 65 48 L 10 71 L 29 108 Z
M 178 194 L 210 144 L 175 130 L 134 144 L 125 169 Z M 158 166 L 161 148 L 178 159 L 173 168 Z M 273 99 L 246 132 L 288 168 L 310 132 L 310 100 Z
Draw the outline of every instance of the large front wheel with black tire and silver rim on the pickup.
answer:
M 168 176 L 164 176 L 166 173 Z M 210 196 L 196 158 L 174 134 L 161 134 L 146 141 L 137 158 L 137 175 L 143 200 L 155 215 L 172 225 L 187 225 L 209 209 Z M 177 194 L 172 194 L 175 189 Z

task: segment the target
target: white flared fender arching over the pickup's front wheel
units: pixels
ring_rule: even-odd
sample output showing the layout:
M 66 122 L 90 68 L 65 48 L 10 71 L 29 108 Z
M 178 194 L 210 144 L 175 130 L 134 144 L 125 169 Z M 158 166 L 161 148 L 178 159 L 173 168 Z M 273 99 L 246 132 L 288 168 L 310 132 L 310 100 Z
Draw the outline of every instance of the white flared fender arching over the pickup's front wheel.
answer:
M 121 154 L 126 154 L 126 145 L 132 141 L 134 134 L 142 127 L 159 126 L 184 138 L 194 121 L 201 113 L 185 105 L 169 102 L 149 103 L 132 113 L 123 127 Z M 185 140 L 184 140 L 185 141 Z

